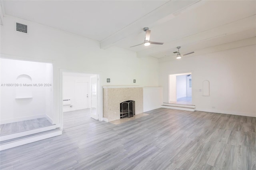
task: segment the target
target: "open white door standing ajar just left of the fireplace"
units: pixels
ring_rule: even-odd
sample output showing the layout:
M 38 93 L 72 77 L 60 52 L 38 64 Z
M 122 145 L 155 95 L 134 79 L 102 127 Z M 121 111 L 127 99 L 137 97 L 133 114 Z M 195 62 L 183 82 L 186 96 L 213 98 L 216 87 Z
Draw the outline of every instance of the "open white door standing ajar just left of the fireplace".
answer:
M 91 77 L 91 117 L 98 120 L 98 75 Z

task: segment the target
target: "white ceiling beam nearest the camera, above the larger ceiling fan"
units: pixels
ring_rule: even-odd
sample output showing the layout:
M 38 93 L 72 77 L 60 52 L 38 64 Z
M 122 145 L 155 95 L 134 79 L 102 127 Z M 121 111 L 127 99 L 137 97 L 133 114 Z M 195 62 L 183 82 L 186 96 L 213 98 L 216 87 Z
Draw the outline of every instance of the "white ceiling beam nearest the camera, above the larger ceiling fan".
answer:
M 114 43 L 133 34 L 140 34 L 144 27 L 153 27 L 156 24 L 161 24 L 171 20 L 175 16 L 181 14 L 192 6 L 197 6 L 196 3 L 201 0 L 182 0 L 182 1 L 168 1 L 162 6 L 156 8 L 152 12 L 146 14 L 142 18 L 122 28 L 118 32 L 112 34 L 108 38 L 100 42 L 100 48 L 106 49 Z M 196 5 L 195 5 L 196 4 Z

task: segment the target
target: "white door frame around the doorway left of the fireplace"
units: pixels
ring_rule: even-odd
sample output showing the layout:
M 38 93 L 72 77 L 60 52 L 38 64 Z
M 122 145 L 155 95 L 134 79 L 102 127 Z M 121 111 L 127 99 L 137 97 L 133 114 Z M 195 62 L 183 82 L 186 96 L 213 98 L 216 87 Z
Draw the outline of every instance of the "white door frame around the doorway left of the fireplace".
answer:
M 97 71 L 81 71 L 81 70 L 70 70 L 70 69 L 59 69 L 60 74 L 60 88 L 59 88 L 59 114 L 60 114 L 60 128 L 63 129 L 63 109 L 62 109 L 62 100 L 63 100 L 63 94 L 62 94 L 62 86 L 63 86 L 63 73 L 83 73 L 83 74 L 94 74 L 98 75 L 98 120 L 103 121 L 103 90 L 102 90 L 102 72 Z

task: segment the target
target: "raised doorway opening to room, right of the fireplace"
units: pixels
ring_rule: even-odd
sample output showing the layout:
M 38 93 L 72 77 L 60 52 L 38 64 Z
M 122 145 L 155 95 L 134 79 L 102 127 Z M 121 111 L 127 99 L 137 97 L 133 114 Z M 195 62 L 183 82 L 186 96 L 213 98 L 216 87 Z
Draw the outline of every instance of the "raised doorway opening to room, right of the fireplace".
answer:
M 169 103 L 192 105 L 192 73 L 169 75 Z

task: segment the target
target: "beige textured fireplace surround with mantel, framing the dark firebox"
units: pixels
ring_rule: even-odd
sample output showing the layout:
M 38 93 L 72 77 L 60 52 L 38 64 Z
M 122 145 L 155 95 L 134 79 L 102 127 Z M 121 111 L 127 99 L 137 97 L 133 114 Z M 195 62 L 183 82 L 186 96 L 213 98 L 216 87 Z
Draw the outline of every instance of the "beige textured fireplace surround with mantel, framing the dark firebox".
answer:
M 104 86 L 103 117 L 108 122 L 120 119 L 120 103 L 135 101 L 135 114 L 143 113 L 143 87 Z

